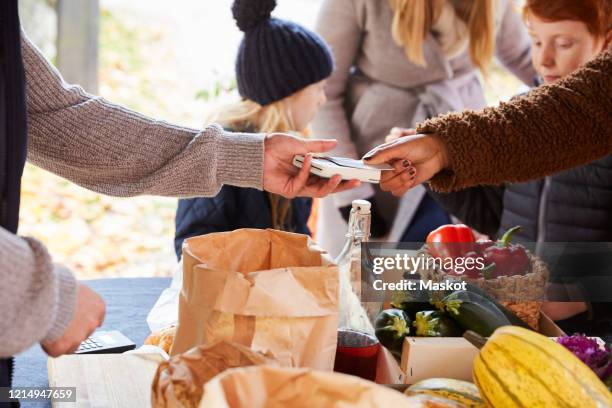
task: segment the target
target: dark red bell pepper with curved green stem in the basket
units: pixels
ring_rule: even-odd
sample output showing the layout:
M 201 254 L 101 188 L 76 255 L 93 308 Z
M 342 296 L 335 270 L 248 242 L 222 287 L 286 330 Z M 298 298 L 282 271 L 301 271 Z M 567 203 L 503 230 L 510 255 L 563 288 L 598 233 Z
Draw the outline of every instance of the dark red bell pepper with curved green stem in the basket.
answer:
M 499 276 L 524 275 L 529 267 L 529 257 L 522 245 L 511 244 L 510 240 L 521 227 L 510 228 L 502 238 L 482 251 L 486 265 L 495 264 L 490 278 Z

